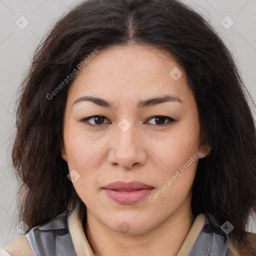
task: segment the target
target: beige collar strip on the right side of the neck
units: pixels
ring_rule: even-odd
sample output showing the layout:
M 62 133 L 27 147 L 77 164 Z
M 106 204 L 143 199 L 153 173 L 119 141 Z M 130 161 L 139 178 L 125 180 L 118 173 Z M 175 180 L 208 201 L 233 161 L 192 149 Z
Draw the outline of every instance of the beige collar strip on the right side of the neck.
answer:
M 203 214 L 199 214 L 196 216 L 189 232 L 186 235 L 186 238 L 183 242 L 183 244 L 181 245 L 178 253 L 176 256 L 187 256 L 188 253 L 190 252 L 197 236 L 199 235 L 203 224 L 205 221 L 205 216 Z

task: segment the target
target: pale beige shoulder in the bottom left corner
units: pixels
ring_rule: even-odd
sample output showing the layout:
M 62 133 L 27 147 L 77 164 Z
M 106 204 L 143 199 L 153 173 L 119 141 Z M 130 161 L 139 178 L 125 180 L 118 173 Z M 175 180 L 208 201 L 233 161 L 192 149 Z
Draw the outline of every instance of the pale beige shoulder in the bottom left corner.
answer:
M 13 238 L 0 250 L 0 256 L 33 256 L 32 249 L 25 235 Z

